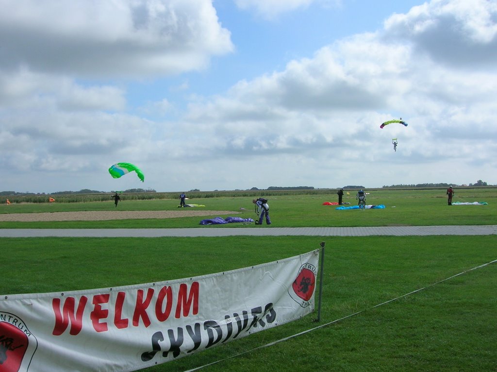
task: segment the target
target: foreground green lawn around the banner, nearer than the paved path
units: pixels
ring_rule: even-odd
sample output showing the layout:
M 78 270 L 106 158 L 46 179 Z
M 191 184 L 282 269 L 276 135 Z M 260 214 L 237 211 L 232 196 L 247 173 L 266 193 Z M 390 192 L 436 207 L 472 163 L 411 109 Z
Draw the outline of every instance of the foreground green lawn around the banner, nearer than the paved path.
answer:
M 1 294 L 186 278 L 294 256 L 327 242 L 322 324 L 203 371 L 497 369 L 495 236 L 5 238 Z M 316 327 L 308 316 L 144 371 L 185 371 Z

